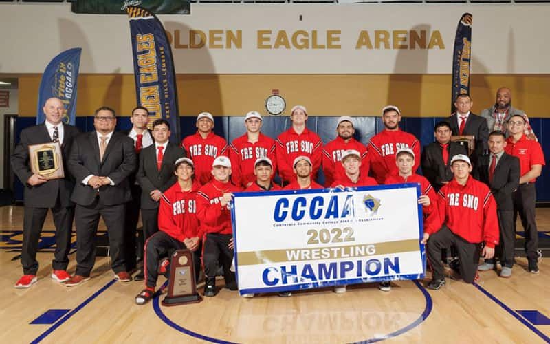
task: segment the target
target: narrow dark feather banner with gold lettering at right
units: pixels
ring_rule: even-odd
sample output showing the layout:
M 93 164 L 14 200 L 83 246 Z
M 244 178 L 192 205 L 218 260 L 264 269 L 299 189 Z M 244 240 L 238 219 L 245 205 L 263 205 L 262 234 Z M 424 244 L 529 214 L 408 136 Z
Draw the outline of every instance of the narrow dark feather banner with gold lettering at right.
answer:
M 459 94 L 470 94 L 470 65 L 472 55 L 472 14 L 462 15 L 456 27 L 454 50 L 452 55 L 452 95 L 451 112 L 454 112 L 454 100 Z

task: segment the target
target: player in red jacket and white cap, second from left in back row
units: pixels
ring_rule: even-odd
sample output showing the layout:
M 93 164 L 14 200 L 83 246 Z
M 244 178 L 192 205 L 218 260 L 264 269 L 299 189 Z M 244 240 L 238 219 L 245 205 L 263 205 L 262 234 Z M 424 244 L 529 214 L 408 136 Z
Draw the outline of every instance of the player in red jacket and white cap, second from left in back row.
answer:
M 254 163 L 259 158 L 268 157 L 275 161 L 275 140 L 261 133 L 262 116 L 250 111 L 245 116 L 246 133 L 231 142 L 229 158 L 231 160 L 231 180 L 236 186 L 248 188 L 256 181 Z M 272 165 L 272 174 L 275 166 Z

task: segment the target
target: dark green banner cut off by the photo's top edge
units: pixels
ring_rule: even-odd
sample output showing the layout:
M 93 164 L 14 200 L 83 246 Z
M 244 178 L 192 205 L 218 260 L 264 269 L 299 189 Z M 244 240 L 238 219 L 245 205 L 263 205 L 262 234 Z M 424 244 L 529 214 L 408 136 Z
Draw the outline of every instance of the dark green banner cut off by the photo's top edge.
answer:
M 156 14 L 190 14 L 188 0 L 73 0 L 73 13 L 126 14 L 129 6 L 148 8 Z

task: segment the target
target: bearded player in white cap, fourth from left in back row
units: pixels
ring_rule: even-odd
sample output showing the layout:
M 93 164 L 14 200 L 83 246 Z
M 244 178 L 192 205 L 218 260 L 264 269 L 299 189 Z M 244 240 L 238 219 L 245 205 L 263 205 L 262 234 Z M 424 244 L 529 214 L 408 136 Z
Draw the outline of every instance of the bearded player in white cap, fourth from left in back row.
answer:
M 338 133 L 336 139 L 325 144 L 325 148 L 322 149 L 322 171 L 325 174 L 326 187 L 331 186 L 335 180 L 344 176 L 344 166 L 340 164 L 340 161 L 344 158 L 342 156 L 344 151 L 349 149 L 360 153 L 360 159 L 362 160 L 361 175 L 366 176 L 369 174 L 369 160 L 364 159 L 367 154 L 366 147 L 353 138 L 355 128 L 353 128 L 353 121 L 350 116 L 338 118 L 336 133 Z

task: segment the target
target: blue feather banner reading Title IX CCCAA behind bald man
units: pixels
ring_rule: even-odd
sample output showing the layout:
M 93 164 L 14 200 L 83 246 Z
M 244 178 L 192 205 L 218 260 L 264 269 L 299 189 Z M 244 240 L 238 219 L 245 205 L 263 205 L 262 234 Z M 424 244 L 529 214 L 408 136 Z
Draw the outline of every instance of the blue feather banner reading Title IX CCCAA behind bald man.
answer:
M 46 100 L 56 97 L 65 105 L 63 122 L 74 125 L 76 116 L 76 81 L 82 49 L 75 47 L 65 50 L 48 63 L 40 81 L 39 102 L 36 109 L 36 124 L 45 121 L 42 107 Z

